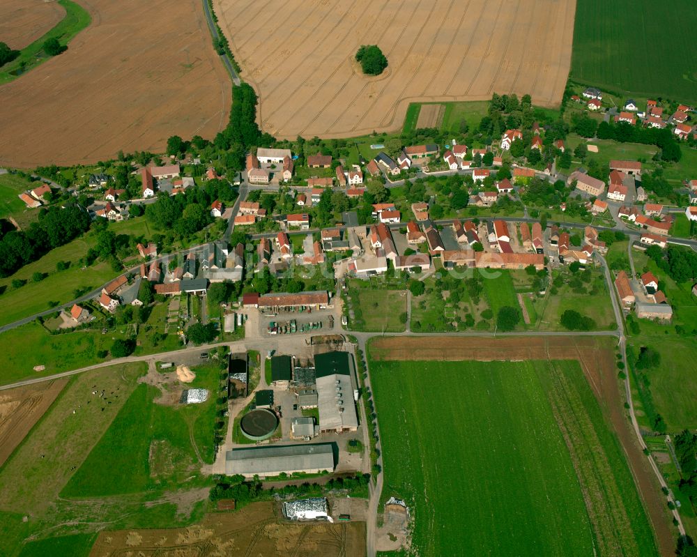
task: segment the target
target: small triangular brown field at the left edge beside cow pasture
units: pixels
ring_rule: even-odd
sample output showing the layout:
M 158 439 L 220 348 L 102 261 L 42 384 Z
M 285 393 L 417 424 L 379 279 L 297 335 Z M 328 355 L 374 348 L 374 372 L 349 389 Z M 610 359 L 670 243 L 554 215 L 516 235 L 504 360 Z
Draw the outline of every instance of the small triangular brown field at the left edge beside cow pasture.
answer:
M 53 404 L 68 379 L 0 391 L 0 466 Z

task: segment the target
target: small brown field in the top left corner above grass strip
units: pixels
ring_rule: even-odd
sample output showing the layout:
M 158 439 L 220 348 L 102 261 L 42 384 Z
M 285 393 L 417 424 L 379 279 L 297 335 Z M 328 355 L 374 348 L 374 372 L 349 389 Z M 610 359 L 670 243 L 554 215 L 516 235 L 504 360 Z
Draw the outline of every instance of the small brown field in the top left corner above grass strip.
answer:
M 30 45 L 66 15 L 58 2 L 3 0 L 0 2 L 0 41 L 16 50 Z

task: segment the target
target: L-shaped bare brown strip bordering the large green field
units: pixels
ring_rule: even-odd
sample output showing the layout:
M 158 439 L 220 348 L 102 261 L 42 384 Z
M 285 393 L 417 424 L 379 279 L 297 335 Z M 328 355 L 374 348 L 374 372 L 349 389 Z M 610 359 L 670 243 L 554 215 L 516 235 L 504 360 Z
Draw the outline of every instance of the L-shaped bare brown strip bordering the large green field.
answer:
M 369 344 L 372 360 L 579 360 L 625 450 L 661 555 L 671 555 L 675 540 L 666 499 L 623 409 L 625 399 L 617 379 L 615 351 L 616 340 L 608 337 L 377 337 Z

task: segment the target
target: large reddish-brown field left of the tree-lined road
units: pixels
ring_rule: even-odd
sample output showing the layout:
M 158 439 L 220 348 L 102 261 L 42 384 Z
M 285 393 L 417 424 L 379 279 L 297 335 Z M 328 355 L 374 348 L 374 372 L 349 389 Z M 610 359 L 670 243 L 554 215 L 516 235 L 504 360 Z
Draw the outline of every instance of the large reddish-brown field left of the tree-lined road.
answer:
M 68 51 L 0 86 L 0 164 L 72 165 L 167 138 L 213 138 L 231 82 L 200 0 L 77 0 L 92 17 Z

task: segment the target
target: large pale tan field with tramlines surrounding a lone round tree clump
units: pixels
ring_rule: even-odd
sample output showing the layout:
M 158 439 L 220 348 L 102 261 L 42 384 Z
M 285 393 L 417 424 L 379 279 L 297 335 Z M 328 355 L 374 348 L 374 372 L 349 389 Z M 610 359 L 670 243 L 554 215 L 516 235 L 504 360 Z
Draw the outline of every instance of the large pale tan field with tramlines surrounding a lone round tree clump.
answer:
M 576 0 L 215 0 L 220 26 L 277 137 L 346 137 L 401 127 L 409 102 L 530 93 L 557 105 Z M 353 56 L 377 44 L 389 67 Z

